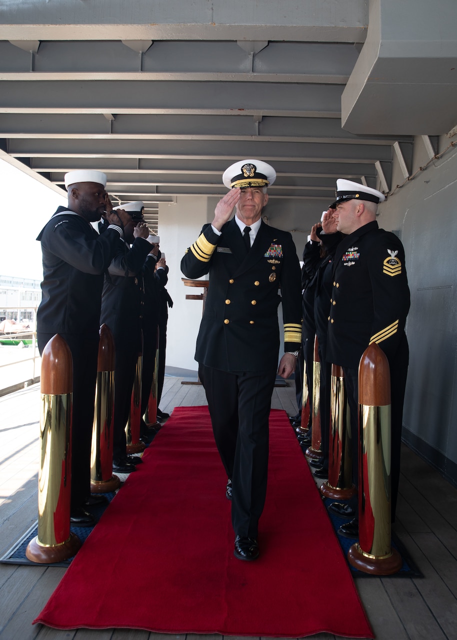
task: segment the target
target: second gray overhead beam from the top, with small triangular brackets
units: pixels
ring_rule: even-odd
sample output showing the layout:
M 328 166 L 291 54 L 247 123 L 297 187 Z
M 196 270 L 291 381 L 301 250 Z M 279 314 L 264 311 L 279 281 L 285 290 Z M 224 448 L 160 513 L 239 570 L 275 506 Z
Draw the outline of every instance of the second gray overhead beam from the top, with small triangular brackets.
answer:
M 0 41 L 1 77 L 17 74 L 18 79 L 33 80 L 47 76 L 65 79 L 67 75 L 79 79 L 82 75 L 150 81 L 180 80 L 188 75 L 193 80 L 232 81 L 245 77 L 262 80 L 277 74 L 281 81 L 345 83 L 358 58 L 352 44 L 333 42 L 270 42 L 257 54 L 242 51 L 236 42 L 156 42 L 140 56 L 123 42 L 54 41 L 40 44 L 33 58 L 34 73 L 30 74 L 29 47 L 33 43 L 24 41 L 23 46 L 25 51 Z

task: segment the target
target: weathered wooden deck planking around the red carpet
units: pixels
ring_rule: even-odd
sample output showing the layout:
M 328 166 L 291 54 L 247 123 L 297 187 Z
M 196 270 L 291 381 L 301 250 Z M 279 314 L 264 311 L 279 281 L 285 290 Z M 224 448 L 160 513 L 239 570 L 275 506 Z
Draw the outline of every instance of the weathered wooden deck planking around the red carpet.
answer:
M 33 468 L 36 460 L 23 464 L 19 458 L 22 452 L 33 450 L 29 443 L 36 439 L 39 412 L 36 399 L 39 394 L 36 389 L 34 394 L 32 387 L 24 390 L 24 397 L 21 393 L 6 396 L 10 403 L 3 398 L 4 403 L 0 404 L 2 554 L 17 540 L 18 532 L 26 531 L 36 520 L 37 477 L 36 468 Z M 200 385 L 181 385 L 179 378 L 165 378 L 161 401 L 164 412 L 171 413 L 175 406 L 200 404 L 207 404 Z M 275 387 L 271 406 L 284 409 L 288 415 L 296 413 L 293 381 L 287 387 Z M 3 408 L 6 411 L 3 412 Z M 28 423 L 27 426 L 19 424 L 21 420 Z M 424 578 L 360 578 L 356 585 L 378 640 L 454 640 L 457 638 L 457 490 L 406 447 L 403 447 L 402 455 L 397 523 L 394 527 L 424 573 Z M 8 493 L 8 488 L 11 493 Z M 221 640 L 217 635 L 177 636 L 144 630 L 32 627 L 31 621 L 41 611 L 64 572 L 65 569 L 57 567 L 0 564 L 1 640 Z M 312 577 L 309 584 L 312 585 Z M 303 615 L 306 615 L 305 598 Z M 335 636 L 318 634 L 309 638 L 333 640 Z M 227 637 L 227 640 L 233 639 Z

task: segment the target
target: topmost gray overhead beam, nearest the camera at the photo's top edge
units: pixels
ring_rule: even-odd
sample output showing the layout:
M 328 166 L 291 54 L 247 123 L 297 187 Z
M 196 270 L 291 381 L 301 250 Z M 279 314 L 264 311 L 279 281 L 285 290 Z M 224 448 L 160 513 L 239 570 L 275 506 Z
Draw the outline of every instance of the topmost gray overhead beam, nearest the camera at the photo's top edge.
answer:
M 179 22 L 178 22 L 179 20 Z M 0 4 L 8 40 L 326 40 L 363 42 L 368 24 L 365 0 L 48 0 Z M 33 35 L 32 35 L 33 34 Z

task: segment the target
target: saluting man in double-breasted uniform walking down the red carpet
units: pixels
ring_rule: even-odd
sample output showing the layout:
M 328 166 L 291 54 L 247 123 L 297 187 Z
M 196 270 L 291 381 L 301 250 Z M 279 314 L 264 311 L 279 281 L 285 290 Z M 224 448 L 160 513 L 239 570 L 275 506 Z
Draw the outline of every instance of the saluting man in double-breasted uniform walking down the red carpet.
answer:
M 261 220 L 275 179 L 273 167 L 259 160 L 232 164 L 223 174 L 229 193 L 181 261 L 188 278 L 209 273 L 195 359 L 227 472 L 234 554 L 242 560 L 259 556 L 276 374 L 289 378 L 301 348 L 301 275 L 293 239 Z M 278 367 L 280 303 L 285 353 Z

